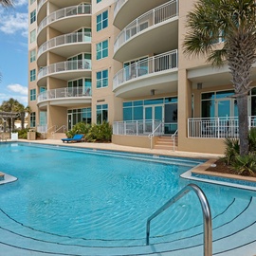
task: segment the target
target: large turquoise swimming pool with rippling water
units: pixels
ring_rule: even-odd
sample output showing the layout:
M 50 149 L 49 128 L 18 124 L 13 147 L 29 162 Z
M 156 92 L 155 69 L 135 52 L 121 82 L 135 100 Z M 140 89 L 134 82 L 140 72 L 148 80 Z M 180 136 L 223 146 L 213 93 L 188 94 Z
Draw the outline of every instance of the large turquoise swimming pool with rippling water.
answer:
M 147 218 L 190 183 L 179 175 L 203 162 L 27 143 L 2 143 L 0 150 L 1 171 L 18 177 L 0 186 L 0 243 L 60 255 L 94 255 L 88 247 L 149 255 Z M 255 192 L 197 185 L 210 201 L 216 241 L 235 234 L 235 228 L 226 233 L 228 224 L 255 210 Z M 158 251 L 198 247 L 202 229 L 199 201 L 190 193 L 153 221 L 151 243 Z M 120 254 L 115 247 L 129 250 Z

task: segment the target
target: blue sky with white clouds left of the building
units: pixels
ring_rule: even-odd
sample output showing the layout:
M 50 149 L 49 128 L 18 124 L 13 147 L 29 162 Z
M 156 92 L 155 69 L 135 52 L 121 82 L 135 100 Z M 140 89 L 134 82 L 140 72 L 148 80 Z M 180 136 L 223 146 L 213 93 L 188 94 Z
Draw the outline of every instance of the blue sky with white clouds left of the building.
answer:
M 0 105 L 10 98 L 27 106 L 27 5 L 0 6 Z

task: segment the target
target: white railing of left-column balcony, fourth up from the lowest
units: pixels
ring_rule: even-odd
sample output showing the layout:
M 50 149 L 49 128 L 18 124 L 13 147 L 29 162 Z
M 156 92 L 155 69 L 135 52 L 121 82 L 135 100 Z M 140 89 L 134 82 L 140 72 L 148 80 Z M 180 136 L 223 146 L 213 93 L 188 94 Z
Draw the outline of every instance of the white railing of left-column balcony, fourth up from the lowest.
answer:
M 41 30 L 46 27 L 48 24 L 57 21 L 59 19 L 63 19 L 69 16 L 81 15 L 81 14 L 91 14 L 91 5 L 78 5 L 73 7 L 67 7 L 64 9 L 58 9 L 50 13 L 38 26 L 37 34 L 41 32 Z

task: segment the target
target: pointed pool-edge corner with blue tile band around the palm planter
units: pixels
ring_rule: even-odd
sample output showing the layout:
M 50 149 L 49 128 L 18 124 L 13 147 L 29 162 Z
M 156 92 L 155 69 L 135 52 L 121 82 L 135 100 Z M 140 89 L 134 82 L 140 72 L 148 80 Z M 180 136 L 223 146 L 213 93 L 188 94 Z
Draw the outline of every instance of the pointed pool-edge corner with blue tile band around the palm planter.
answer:
M 256 191 L 256 177 L 242 176 L 238 174 L 222 174 L 212 171 L 206 171 L 210 165 L 214 164 L 216 159 L 209 159 L 190 171 L 180 176 L 186 179 L 198 180 L 223 186 L 229 186 L 244 190 Z

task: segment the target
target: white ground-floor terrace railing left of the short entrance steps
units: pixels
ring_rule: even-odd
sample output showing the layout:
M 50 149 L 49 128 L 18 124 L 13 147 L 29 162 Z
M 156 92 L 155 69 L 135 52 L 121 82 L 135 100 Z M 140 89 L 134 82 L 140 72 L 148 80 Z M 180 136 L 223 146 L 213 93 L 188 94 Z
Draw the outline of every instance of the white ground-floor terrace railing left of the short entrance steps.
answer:
M 148 136 L 155 131 L 160 120 L 128 120 L 115 121 L 113 124 L 114 135 Z

